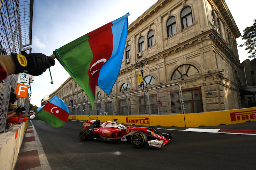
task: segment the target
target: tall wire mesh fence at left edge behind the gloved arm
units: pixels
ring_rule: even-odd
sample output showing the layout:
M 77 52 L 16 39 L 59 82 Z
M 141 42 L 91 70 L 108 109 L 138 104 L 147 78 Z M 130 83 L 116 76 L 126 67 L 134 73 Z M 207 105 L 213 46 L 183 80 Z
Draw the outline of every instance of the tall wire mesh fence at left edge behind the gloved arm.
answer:
M 33 0 L 0 0 L 0 14 L 0 55 L 30 53 L 31 47 L 27 46 L 32 40 Z M 5 129 L 10 92 L 16 90 L 16 84 L 17 75 L 0 82 L 0 132 Z M 19 99 L 17 104 L 29 110 L 30 94 L 26 99 Z

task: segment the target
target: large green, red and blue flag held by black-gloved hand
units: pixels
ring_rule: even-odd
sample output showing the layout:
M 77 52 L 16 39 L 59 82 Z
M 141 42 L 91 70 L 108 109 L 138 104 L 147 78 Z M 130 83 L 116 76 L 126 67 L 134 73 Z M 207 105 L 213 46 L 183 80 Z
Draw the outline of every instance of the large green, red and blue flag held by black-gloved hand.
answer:
M 60 64 L 95 101 L 95 85 L 110 94 L 119 73 L 129 13 L 54 51 Z

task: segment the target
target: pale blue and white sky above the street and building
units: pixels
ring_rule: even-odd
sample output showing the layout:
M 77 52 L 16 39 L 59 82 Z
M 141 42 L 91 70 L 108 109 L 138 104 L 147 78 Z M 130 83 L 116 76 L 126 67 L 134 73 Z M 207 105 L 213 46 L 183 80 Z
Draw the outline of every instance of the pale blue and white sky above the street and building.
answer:
M 79 38 L 106 23 L 109 23 L 127 12 L 128 22 L 132 23 L 157 0 L 34 0 L 32 26 L 32 52 L 47 56 L 69 42 Z M 225 0 L 241 34 L 253 25 L 256 18 L 255 0 Z M 238 46 L 245 41 L 237 38 Z M 248 57 L 245 47 L 238 47 L 240 62 Z M 250 60 L 250 58 L 249 58 Z M 55 60 L 55 65 L 42 75 L 34 77 L 31 84 L 33 105 L 41 106 L 41 100 L 52 94 L 70 75 Z

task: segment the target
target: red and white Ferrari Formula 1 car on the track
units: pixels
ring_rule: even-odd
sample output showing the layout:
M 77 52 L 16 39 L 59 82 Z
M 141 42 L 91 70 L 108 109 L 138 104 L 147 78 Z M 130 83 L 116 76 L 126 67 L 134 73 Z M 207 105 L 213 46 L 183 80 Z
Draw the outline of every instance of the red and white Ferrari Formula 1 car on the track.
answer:
M 136 148 L 141 148 L 148 143 L 148 146 L 161 148 L 172 138 L 172 134 L 159 134 L 157 128 L 140 128 L 118 124 L 117 119 L 106 121 L 100 124 L 99 120 L 84 122 L 84 129 L 80 131 L 79 137 L 82 141 L 97 139 L 104 141 L 127 141 Z

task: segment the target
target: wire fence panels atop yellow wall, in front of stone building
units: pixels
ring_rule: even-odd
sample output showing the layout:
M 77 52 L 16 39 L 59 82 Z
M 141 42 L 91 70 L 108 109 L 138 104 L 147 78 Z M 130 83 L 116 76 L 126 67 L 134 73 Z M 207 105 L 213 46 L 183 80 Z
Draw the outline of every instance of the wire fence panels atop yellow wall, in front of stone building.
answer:
M 173 84 L 127 95 L 69 106 L 70 115 L 167 115 L 183 114 L 181 86 Z

